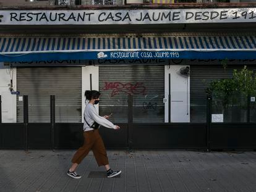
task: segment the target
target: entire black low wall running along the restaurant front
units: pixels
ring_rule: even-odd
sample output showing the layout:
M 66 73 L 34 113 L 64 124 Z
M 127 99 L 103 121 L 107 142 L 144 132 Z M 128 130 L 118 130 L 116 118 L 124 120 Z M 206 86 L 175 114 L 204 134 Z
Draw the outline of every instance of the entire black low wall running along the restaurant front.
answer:
M 127 123 L 121 130 L 100 128 L 108 149 L 128 148 Z M 25 149 L 23 123 L 0 123 L 0 148 Z M 256 149 L 256 123 L 211 123 L 211 149 Z M 82 123 L 54 124 L 54 148 L 78 149 L 83 144 Z M 28 123 L 29 149 L 52 149 L 50 123 Z M 205 123 L 134 123 L 132 149 L 206 149 Z

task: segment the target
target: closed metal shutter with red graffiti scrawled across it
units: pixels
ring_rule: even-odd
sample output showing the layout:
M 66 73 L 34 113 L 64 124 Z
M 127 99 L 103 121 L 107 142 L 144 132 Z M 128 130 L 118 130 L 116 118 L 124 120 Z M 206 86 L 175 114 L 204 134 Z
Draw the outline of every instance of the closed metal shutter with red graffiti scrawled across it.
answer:
M 113 112 L 115 122 L 127 122 L 127 94 L 132 94 L 133 120 L 164 122 L 164 66 L 100 67 L 100 114 Z

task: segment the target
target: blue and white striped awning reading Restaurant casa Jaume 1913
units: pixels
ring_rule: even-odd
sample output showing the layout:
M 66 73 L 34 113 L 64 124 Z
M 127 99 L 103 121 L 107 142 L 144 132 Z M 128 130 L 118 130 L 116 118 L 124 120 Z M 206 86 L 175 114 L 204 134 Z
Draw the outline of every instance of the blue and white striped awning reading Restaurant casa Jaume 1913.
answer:
M 0 61 L 256 59 L 256 36 L 2 37 Z

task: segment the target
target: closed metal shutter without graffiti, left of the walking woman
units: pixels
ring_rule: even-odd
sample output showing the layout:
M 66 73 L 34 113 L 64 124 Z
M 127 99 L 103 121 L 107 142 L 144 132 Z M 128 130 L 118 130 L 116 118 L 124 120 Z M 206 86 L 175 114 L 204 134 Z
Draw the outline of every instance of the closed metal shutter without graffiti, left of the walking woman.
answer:
M 18 68 L 17 90 L 28 95 L 29 122 L 50 122 L 50 95 L 55 95 L 56 122 L 81 122 L 81 67 Z M 23 122 L 19 99 L 17 122 Z

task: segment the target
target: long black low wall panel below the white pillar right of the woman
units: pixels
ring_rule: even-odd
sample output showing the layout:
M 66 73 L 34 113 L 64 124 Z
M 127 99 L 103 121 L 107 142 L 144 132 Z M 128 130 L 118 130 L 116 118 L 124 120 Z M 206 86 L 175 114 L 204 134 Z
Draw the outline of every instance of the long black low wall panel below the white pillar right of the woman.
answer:
M 132 133 L 132 148 L 207 148 L 205 123 L 134 123 Z

